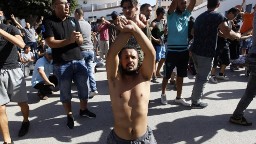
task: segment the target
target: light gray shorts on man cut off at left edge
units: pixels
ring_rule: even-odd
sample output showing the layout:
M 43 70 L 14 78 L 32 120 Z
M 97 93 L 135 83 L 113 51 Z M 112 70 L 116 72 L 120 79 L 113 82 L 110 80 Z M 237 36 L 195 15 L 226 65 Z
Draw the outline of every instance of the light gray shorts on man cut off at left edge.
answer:
M 10 101 L 28 101 L 25 78 L 20 68 L 1 69 L 0 81 L 0 106 Z

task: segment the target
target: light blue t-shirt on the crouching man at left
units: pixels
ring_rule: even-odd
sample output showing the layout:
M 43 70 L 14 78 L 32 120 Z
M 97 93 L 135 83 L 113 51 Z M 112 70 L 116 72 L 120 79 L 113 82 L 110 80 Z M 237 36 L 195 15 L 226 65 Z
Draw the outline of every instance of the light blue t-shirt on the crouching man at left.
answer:
M 38 68 L 42 68 L 44 70 L 45 75 L 47 78 L 49 78 L 50 74 L 53 72 L 53 65 L 52 60 L 50 63 L 45 59 L 45 56 L 43 58 L 40 58 L 37 60 L 33 76 L 31 78 L 31 85 L 34 87 L 37 83 L 43 82 L 44 79 L 41 77 L 41 75 L 38 72 Z

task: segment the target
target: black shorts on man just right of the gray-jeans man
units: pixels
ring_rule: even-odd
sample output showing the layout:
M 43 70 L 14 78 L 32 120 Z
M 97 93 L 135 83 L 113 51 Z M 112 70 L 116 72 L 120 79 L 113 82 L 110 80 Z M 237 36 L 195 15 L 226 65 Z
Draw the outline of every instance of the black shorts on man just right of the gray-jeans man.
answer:
M 217 67 L 220 60 L 221 60 L 221 63 L 226 66 L 228 66 L 230 63 L 230 55 L 229 55 L 229 49 L 227 45 L 217 45 L 215 57 L 213 60 L 213 68 Z

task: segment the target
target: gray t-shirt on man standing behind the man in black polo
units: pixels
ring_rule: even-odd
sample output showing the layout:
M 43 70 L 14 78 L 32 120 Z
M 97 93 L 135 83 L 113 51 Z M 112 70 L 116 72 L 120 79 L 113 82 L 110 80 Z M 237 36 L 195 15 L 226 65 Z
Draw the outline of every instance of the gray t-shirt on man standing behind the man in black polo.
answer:
M 80 50 L 93 49 L 91 41 L 91 25 L 84 19 L 78 20 L 84 38 L 83 44 L 79 45 Z

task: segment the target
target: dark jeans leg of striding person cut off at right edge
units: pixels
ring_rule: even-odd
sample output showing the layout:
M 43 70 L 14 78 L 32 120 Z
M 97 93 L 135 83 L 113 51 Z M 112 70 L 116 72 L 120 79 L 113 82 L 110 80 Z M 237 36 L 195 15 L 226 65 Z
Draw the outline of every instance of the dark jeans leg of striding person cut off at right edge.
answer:
M 250 70 L 250 75 L 244 95 L 233 113 L 235 118 L 242 118 L 244 110 L 250 105 L 256 94 L 256 54 L 248 55 L 245 63 L 246 67 Z

